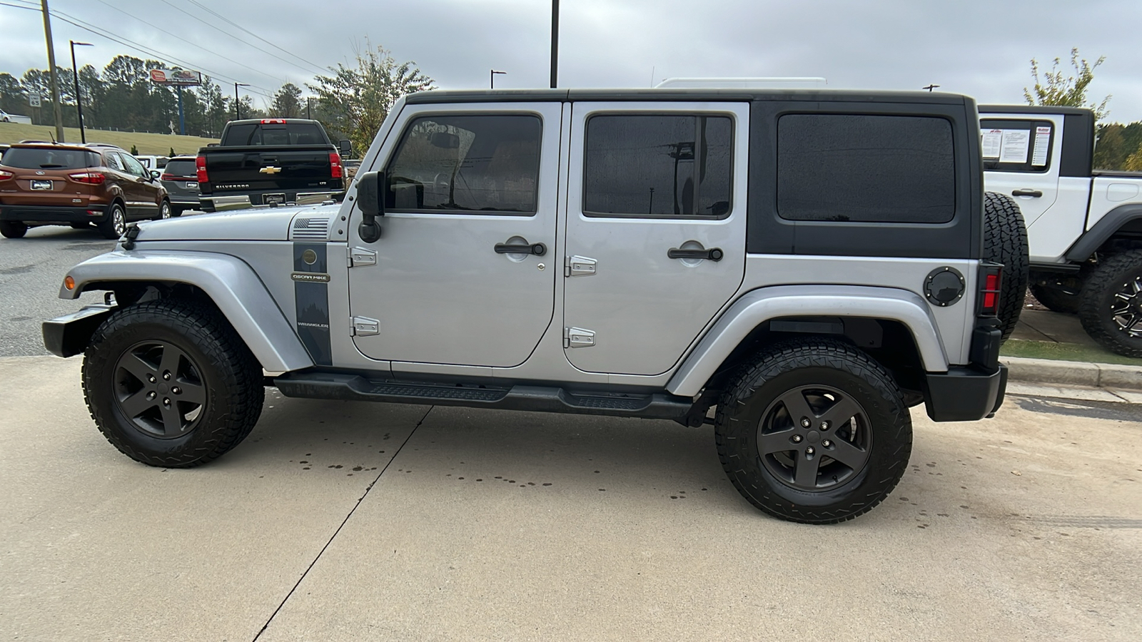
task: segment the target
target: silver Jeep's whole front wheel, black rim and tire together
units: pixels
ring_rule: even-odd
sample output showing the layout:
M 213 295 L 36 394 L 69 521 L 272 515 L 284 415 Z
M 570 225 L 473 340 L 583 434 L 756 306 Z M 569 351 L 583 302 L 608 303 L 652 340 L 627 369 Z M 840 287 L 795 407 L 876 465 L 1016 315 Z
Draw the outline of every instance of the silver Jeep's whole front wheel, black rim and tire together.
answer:
M 119 310 L 83 356 L 83 396 L 112 446 L 190 468 L 238 446 L 262 414 L 262 367 L 217 312 L 154 300 Z

